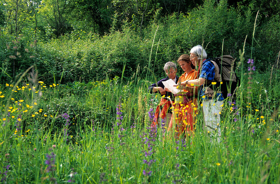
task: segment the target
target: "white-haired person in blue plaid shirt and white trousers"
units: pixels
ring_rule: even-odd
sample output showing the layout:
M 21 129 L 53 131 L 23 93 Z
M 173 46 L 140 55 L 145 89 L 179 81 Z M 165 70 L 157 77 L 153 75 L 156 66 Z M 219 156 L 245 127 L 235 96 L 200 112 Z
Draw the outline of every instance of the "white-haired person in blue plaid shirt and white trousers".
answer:
M 181 85 L 201 86 L 200 96 L 202 97 L 202 108 L 204 113 L 204 130 L 208 133 L 217 134 L 217 141 L 220 141 L 220 113 L 223 104 L 222 92 L 215 87 L 216 81 L 220 81 L 215 76 L 214 63 L 211 60 L 206 60 L 207 53 L 202 46 L 197 45 L 190 51 L 190 58 L 194 66 L 198 66 L 198 71 L 201 71 L 198 79 L 186 80 Z M 202 63 L 201 63 L 202 62 Z M 211 88 L 210 88 L 211 87 Z

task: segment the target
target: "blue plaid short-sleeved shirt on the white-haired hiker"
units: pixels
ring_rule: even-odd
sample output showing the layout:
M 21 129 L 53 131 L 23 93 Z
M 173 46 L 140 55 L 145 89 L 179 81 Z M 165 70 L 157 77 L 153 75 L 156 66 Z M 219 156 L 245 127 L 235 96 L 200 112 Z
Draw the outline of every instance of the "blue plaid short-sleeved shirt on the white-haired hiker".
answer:
M 204 78 L 206 80 L 214 80 L 215 77 L 215 66 L 210 60 L 205 60 L 202 63 L 200 78 Z M 203 88 L 203 85 L 200 90 L 200 96 L 204 95 L 204 91 L 206 88 Z M 206 99 L 212 99 L 211 97 L 205 97 Z M 221 93 L 216 93 L 214 97 L 215 100 L 222 101 L 224 100 L 223 95 Z

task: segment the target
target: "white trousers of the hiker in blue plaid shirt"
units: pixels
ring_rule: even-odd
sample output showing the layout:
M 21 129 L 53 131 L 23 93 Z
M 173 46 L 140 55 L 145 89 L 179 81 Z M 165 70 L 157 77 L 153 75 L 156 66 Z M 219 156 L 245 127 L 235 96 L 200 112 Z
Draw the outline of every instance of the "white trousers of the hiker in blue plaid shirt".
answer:
M 205 133 L 209 131 L 210 134 L 217 136 L 217 141 L 221 139 L 221 128 L 220 128 L 220 114 L 223 101 L 212 101 L 205 99 L 202 101 L 202 108 L 204 114 L 204 125 L 203 129 Z

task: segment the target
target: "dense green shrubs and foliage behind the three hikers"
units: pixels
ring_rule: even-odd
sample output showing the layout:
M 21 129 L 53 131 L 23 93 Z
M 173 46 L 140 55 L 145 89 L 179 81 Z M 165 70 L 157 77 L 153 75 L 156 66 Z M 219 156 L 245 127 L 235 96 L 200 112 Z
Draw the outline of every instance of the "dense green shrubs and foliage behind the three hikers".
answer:
M 36 9 L 41 7 L 40 3 L 44 4 L 43 8 Z M 153 11 L 151 9 L 149 10 L 150 17 L 147 15 L 149 18 L 146 17 L 141 31 L 138 19 L 135 19 L 135 21 L 138 20 L 138 24 L 134 21 L 131 22 L 130 18 L 118 19 L 117 17 L 121 15 L 114 10 L 117 15 L 110 19 L 113 22 L 108 20 L 109 22 L 106 23 L 108 28 L 101 26 L 102 29 L 107 29 L 105 32 L 108 32 L 104 36 L 94 33 L 90 29 L 91 25 L 84 24 L 83 21 L 80 23 L 78 20 L 75 23 L 67 22 L 67 17 L 72 15 L 71 12 L 89 16 L 87 12 L 93 10 L 79 14 L 76 12 L 78 9 L 70 11 L 72 9 L 67 9 L 68 5 L 64 6 L 63 2 L 60 2 L 62 4 L 59 6 L 52 3 L 55 2 L 42 1 L 33 6 L 29 4 L 27 7 L 31 9 L 26 12 L 25 9 L 19 9 L 21 14 L 18 14 L 18 24 L 11 22 L 11 19 L 7 18 L 8 15 L 5 15 L 6 24 L 1 27 L 0 59 L 11 78 L 15 79 L 17 74 L 24 72 L 31 65 L 35 65 L 39 70 L 39 75 L 45 81 L 50 82 L 53 76 L 60 78 L 63 70 L 62 83 L 77 81 L 80 77 L 82 81 L 86 82 L 96 78 L 99 80 L 100 77 L 104 79 L 106 75 L 111 78 L 115 75 L 121 77 L 123 69 L 126 79 L 136 72 L 141 76 L 146 76 L 145 66 L 153 70 L 155 76 L 160 76 L 165 62 L 176 60 L 179 55 L 188 53 L 192 46 L 198 44 L 206 47 L 209 57 L 230 54 L 238 58 L 238 52 L 243 48 L 246 35 L 248 37 L 245 45 L 245 57 L 255 59 L 258 71 L 267 71 L 277 63 L 280 49 L 278 13 L 268 14 L 268 10 L 260 9 L 256 21 L 255 39 L 251 39 L 256 10 L 258 6 L 264 7 L 260 2 L 251 1 L 247 4 L 239 2 L 235 6 L 230 6 L 226 1 L 220 1 L 217 4 L 216 1 L 208 0 L 196 8 L 187 8 L 185 11 L 168 14 L 164 8 L 156 8 Z M 76 3 L 76 6 L 79 4 L 74 1 L 72 3 Z M 86 4 L 86 2 L 83 3 Z M 80 5 L 86 8 L 82 4 Z M 14 4 L 11 4 L 12 6 Z M 6 8 L 3 9 L 3 12 L 6 12 L 10 6 L 3 7 Z M 66 9 L 60 11 L 60 15 L 58 10 L 53 10 L 55 7 L 65 7 Z M 121 5 L 118 7 L 120 8 Z M 83 8 L 79 11 L 82 11 Z M 108 14 L 109 17 L 109 9 L 106 9 L 106 13 L 104 11 L 104 13 L 97 14 L 102 16 Z M 113 10 L 111 11 L 113 12 Z M 130 12 L 133 11 L 130 10 Z M 122 13 L 122 15 L 126 15 L 125 12 Z M 162 13 L 165 16 L 162 16 Z M 30 17 L 21 17 L 23 14 Z M 60 24 L 63 26 L 57 22 L 55 19 L 57 17 L 60 17 Z M 35 27 L 32 27 L 34 18 L 37 19 L 37 23 Z M 100 20 L 105 21 L 102 18 Z M 147 22 L 147 20 L 149 21 Z M 65 22 L 61 23 L 63 21 Z M 59 28 L 51 24 L 55 24 Z M 95 24 L 97 26 L 97 22 Z M 14 27 L 15 25 L 17 25 L 17 29 Z M 81 27 L 82 25 L 84 27 Z M 75 26 L 78 27 L 75 28 Z M 116 29 L 116 27 L 121 27 L 121 29 Z M 67 32 L 66 29 L 72 31 Z M 18 32 L 13 32 L 15 30 Z M 60 33 L 61 36 L 54 39 L 57 32 L 61 31 L 66 32 Z M 36 39 L 35 42 L 34 39 Z M 253 48 L 251 49 L 252 41 Z M 152 52 L 151 48 L 153 48 Z M 28 49 L 28 53 L 26 49 Z M 5 78 L 4 80 L 9 81 L 10 79 Z

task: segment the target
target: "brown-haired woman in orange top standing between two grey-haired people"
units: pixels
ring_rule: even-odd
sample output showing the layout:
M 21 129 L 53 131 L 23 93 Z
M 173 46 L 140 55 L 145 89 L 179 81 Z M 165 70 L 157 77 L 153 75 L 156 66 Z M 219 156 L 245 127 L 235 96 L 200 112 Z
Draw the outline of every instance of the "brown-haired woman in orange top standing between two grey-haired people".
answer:
M 180 92 L 177 96 L 175 95 L 172 118 L 169 122 L 167 133 L 169 134 L 172 133 L 172 130 L 176 130 L 174 132 L 175 138 L 183 136 L 188 139 L 188 136 L 194 136 L 198 87 L 192 87 L 191 85 L 180 86 L 179 84 L 183 81 L 197 79 L 198 72 L 193 69 L 194 66 L 189 55 L 181 55 L 177 62 L 185 72 L 179 77 L 177 83 L 178 88 L 184 92 Z

